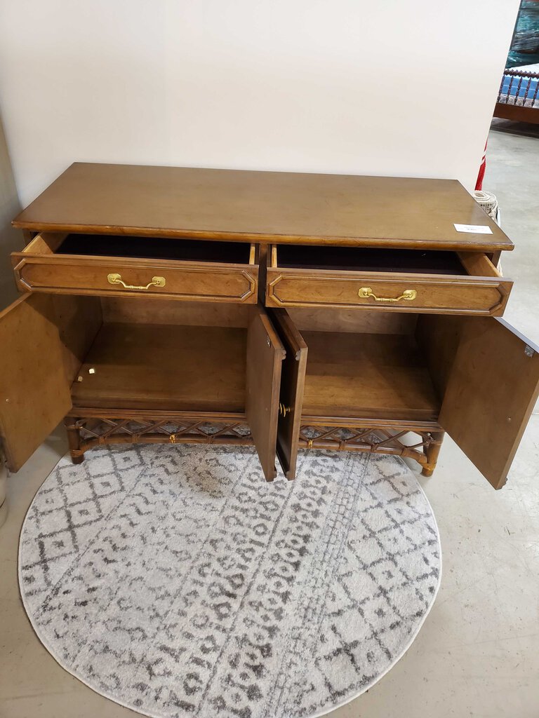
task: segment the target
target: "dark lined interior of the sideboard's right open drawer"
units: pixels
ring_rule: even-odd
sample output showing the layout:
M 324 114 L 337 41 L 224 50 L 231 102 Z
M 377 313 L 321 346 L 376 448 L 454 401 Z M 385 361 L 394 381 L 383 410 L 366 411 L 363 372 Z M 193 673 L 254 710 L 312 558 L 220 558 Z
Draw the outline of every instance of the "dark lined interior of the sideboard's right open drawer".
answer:
M 279 245 L 272 253 L 272 266 L 282 269 L 333 271 L 379 271 L 405 274 L 469 274 L 459 253 L 417 249 L 378 249 Z

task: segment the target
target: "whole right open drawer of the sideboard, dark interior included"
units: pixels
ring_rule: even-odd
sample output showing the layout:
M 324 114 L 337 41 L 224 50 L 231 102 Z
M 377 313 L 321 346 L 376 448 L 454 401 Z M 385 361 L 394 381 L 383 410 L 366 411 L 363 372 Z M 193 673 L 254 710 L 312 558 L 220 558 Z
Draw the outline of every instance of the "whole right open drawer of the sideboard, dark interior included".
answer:
M 274 245 L 266 305 L 499 316 L 511 288 L 479 252 Z

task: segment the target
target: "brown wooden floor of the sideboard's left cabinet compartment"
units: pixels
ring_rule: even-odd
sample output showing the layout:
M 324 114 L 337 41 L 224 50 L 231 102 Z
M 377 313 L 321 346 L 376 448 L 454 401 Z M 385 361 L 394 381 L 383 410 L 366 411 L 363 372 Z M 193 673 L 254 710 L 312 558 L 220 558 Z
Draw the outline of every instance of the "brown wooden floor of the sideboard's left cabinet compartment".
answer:
M 73 406 L 244 411 L 246 353 L 243 328 L 105 323 L 73 382 Z

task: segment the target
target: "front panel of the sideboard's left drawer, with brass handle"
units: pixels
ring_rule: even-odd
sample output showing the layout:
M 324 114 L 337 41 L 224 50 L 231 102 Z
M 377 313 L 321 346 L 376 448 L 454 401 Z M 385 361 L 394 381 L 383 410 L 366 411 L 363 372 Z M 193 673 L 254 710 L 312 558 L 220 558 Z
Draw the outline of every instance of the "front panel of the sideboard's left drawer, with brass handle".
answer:
M 258 266 L 178 261 L 25 256 L 14 266 L 23 292 L 159 296 L 256 304 Z

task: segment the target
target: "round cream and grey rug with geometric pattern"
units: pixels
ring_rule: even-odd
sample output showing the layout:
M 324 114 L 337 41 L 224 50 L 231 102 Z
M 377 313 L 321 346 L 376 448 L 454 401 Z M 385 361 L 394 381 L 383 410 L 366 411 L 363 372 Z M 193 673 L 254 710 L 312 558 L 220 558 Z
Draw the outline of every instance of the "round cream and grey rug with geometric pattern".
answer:
M 64 457 L 22 528 L 19 581 L 63 668 L 155 717 L 296 718 L 367 690 L 433 605 L 433 512 L 397 457 L 250 448 Z

